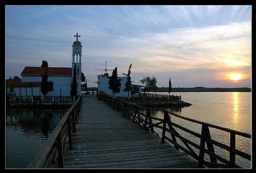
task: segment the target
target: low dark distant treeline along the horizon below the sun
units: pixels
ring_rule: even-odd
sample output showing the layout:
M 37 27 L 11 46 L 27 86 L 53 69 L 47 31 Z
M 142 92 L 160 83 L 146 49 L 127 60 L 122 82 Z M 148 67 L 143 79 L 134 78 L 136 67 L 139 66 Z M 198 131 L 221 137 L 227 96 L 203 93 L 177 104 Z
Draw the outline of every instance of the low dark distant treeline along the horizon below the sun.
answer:
M 88 87 L 88 91 L 97 91 L 97 87 Z M 168 92 L 168 87 L 157 87 L 155 92 Z M 251 89 L 249 87 L 172 87 L 172 92 L 251 92 Z

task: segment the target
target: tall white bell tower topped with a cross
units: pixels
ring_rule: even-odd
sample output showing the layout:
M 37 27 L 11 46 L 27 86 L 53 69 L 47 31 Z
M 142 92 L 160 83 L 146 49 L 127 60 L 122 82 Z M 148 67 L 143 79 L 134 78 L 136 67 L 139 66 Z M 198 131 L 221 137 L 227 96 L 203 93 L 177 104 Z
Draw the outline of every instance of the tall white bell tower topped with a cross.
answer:
M 77 94 L 81 94 L 81 72 L 82 72 L 82 43 L 78 41 L 78 38 L 81 37 L 78 33 L 74 35 L 76 37 L 76 41 L 74 41 L 73 53 L 72 53 L 72 79 L 74 76 L 74 68 L 76 64 L 76 81 L 77 81 Z

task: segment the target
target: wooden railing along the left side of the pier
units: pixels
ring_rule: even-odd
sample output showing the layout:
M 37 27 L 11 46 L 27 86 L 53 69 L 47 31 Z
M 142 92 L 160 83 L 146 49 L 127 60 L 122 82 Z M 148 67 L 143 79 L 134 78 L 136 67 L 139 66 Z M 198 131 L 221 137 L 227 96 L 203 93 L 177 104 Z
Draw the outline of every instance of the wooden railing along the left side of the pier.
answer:
M 81 95 L 67 110 L 27 168 L 63 168 L 67 149 L 72 148 L 72 133 L 76 132 L 77 117 L 79 117 L 82 100 Z

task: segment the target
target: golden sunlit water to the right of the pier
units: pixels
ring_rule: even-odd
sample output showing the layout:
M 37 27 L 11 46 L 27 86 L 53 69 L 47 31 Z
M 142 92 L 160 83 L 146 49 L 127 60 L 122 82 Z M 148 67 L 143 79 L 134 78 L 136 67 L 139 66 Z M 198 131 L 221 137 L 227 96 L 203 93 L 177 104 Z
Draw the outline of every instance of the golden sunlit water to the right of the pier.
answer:
M 166 93 L 163 93 L 166 94 Z M 167 93 L 168 94 L 168 93 Z M 173 93 L 172 93 L 173 94 Z M 191 117 L 199 121 L 204 121 L 239 132 L 252 132 L 252 107 L 251 107 L 251 93 L 240 92 L 224 92 L 224 93 L 174 93 L 182 96 L 184 102 L 192 103 L 190 107 L 173 110 L 176 114 L 185 117 Z M 163 118 L 163 112 L 152 112 L 154 116 Z M 195 132 L 201 132 L 201 126 L 195 123 L 188 123 L 177 117 L 171 116 L 171 121 L 177 124 L 182 124 Z M 210 128 L 211 137 L 214 140 L 221 141 L 229 146 L 229 133 L 221 132 Z M 193 140 L 196 144 L 200 144 L 200 140 L 193 138 L 182 131 L 180 134 Z M 236 137 L 236 149 L 244 153 L 251 154 L 251 140 L 241 137 Z M 216 147 L 216 153 L 228 158 L 227 151 Z M 246 168 L 251 168 L 251 162 L 237 157 L 236 162 Z

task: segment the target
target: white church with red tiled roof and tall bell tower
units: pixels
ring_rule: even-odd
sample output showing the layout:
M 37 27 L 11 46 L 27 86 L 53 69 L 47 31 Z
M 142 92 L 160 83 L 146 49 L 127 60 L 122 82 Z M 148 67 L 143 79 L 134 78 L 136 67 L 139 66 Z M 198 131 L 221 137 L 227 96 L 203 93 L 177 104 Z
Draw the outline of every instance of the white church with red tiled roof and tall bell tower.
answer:
M 81 66 L 82 66 L 82 43 L 78 40 L 80 35 L 74 35 L 76 41 L 72 45 L 72 67 L 25 66 L 20 73 L 21 79 L 6 79 L 6 94 L 16 96 L 41 96 L 42 75 L 47 70 L 49 92 L 46 96 L 70 96 L 74 67 L 76 66 L 77 94 L 81 94 Z M 45 62 L 43 62 L 45 63 Z

